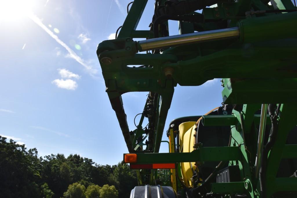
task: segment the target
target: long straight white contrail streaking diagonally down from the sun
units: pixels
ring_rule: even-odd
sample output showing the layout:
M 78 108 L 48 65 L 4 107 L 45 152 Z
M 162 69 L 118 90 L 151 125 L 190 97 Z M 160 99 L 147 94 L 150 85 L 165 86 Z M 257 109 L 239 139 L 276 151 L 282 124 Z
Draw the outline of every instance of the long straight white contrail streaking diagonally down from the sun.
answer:
M 30 12 L 28 17 L 34 21 L 38 26 L 40 26 L 46 33 L 48 33 L 57 43 L 59 43 L 62 47 L 64 47 L 68 53 L 69 57 L 76 60 L 80 65 L 86 68 L 91 74 L 97 73 L 97 69 L 93 69 L 91 66 L 87 65 L 85 60 L 78 56 L 66 43 L 59 39 L 59 37 L 54 34 L 47 26 L 45 26 L 42 21 L 33 13 Z

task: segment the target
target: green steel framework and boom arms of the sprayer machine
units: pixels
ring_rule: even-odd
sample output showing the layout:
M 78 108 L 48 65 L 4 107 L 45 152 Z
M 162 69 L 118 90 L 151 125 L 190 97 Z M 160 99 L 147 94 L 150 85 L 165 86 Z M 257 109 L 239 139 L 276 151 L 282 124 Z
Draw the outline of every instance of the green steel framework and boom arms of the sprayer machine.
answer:
M 138 153 L 139 164 L 229 161 L 229 164 L 239 165 L 241 182 L 213 183 L 212 193 L 244 193 L 249 197 L 260 197 L 259 179 L 255 176 L 258 138 L 255 126 L 260 122 L 260 115 L 255 112 L 261 104 L 281 103 L 277 141 L 267 158 L 267 197 L 275 192 L 297 191 L 296 177 L 276 177 L 282 158 L 297 158 L 297 145 L 285 144 L 288 133 L 297 124 L 297 12 L 257 15 L 248 12 L 251 9 L 296 10 L 290 0 L 274 2 L 278 7 L 261 0 L 222 0 L 217 7 L 203 9 L 204 22 L 196 25 L 209 31 L 221 29 L 213 21 L 226 20 L 225 28 L 238 27 L 238 38 L 168 47 L 162 54 L 138 53 L 141 45 L 133 38 L 151 39 L 154 34 L 150 30 L 136 30 L 147 0 L 133 2 L 117 39 L 100 43 L 97 55 L 106 92 L 127 148 L 130 153 Z M 180 21 L 179 25 L 180 33 L 185 36 L 194 32 L 193 23 Z M 192 153 L 158 153 L 174 87 L 177 84 L 198 86 L 213 78 L 222 78 L 223 103 L 244 104 L 242 111 L 233 110 L 232 115 L 203 116 L 205 126 L 231 127 L 231 146 L 198 147 Z M 146 145 L 143 143 L 146 136 L 142 138 L 145 134 L 142 129 L 144 114 L 137 129 L 129 130 L 121 99 L 126 92 L 158 93 L 152 150 L 143 149 Z M 266 125 L 271 125 L 268 118 Z M 138 172 L 138 176 L 150 173 Z M 153 175 L 150 174 L 150 183 Z M 138 179 L 140 185 L 144 184 Z

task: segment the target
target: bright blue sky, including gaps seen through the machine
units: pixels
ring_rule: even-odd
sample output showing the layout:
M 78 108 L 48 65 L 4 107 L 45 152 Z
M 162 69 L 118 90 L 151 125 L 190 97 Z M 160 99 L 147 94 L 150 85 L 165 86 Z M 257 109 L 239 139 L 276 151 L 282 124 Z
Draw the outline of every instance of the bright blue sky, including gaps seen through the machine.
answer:
M 39 155 L 78 153 L 98 164 L 117 164 L 127 148 L 111 109 L 96 47 L 113 37 L 130 0 L 21 0 L 0 4 L 0 134 L 36 147 Z M 138 29 L 149 29 L 149 0 Z M 170 21 L 170 34 L 178 25 Z M 219 79 L 176 87 L 168 112 L 199 115 L 220 106 Z M 123 95 L 130 130 L 145 92 Z M 164 133 L 163 140 L 167 140 Z M 160 152 L 167 152 L 162 143 Z

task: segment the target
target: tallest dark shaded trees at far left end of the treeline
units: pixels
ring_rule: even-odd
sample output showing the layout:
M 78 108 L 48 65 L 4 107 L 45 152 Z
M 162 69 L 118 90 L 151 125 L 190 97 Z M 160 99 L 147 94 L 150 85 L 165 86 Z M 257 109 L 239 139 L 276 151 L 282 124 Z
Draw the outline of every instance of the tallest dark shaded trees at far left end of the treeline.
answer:
M 37 150 L 26 151 L 25 145 L 0 136 L 0 192 L 1 197 L 40 197 L 37 182 L 40 164 Z

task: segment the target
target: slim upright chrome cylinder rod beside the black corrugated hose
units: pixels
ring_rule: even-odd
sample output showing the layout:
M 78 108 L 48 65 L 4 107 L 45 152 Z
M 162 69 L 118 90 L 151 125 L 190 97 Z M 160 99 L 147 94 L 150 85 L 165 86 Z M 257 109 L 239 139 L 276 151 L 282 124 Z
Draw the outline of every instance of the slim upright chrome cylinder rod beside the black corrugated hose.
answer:
M 260 166 L 261 166 L 261 158 L 263 152 L 263 144 L 264 144 L 264 135 L 266 128 L 266 118 L 267 118 L 267 107 L 268 104 L 262 104 L 261 108 L 261 117 L 260 117 L 260 127 L 259 127 L 259 137 L 258 137 L 258 147 L 257 147 L 257 156 L 256 156 L 256 164 L 255 164 L 255 177 L 258 178 Z

